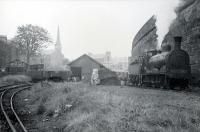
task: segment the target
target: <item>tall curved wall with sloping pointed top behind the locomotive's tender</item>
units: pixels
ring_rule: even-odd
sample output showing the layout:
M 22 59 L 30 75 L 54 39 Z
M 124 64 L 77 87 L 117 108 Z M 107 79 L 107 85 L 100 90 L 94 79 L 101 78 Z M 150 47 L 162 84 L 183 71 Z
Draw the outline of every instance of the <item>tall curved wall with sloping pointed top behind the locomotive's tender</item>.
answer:
M 150 50 L 155 50 L 157 48 L 158 35 L 156 34 L 156 32 L 157 32 L 156 18 L 152 16 L 139 30 L 139 32 L 133 39 L 132 55 L 131 57 L 129 57 L 129 67 L 128 67 L 130 74 L 139 74 L 140 73 L 140 66 L 138 64 L 139 57 L 142 56 L 145 52 Z

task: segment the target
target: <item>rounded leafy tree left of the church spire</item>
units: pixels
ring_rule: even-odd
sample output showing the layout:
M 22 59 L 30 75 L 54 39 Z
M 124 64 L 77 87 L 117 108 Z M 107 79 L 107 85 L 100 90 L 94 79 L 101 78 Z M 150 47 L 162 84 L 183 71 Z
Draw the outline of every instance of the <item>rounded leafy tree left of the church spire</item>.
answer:
M 52 42 L 46 29 L 31 24 L 19 26 L 13 41 L 21 54 L 26 56 L 27 64 L 30 63 L 31 56 L 39 53 Z

